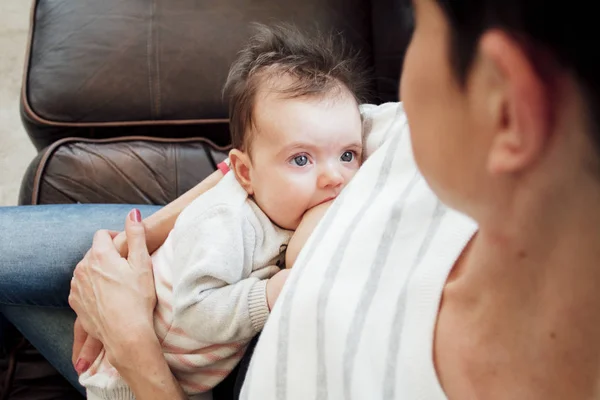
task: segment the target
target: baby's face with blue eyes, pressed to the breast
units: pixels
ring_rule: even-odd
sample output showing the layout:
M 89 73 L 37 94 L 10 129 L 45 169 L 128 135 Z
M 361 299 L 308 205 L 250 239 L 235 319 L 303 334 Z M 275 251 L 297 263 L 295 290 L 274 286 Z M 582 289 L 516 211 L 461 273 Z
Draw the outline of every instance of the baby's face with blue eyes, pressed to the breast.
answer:
M 273 222 L 295 230 L 306 210 L 337 197 L 358 171 L 358 105 L 347 91 L 292 99 L 259 93 L 254 121 L 254 199 Z

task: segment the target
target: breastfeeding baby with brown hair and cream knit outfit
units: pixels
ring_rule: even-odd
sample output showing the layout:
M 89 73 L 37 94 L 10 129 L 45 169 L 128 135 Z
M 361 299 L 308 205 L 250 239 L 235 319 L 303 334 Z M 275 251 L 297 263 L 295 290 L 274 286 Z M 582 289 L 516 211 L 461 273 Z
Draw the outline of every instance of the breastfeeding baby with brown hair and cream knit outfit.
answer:
M 331 39 L 260 26 L 234 62 L 230 172 L 179 216 L 153 254 L 154 326 L 190 398 L 236 366 L 278 296 L 270 278 L 305 212 L 336 198 L 362 160 L 360 77 Z M 101 353 L 89 399 L 134 399 Z

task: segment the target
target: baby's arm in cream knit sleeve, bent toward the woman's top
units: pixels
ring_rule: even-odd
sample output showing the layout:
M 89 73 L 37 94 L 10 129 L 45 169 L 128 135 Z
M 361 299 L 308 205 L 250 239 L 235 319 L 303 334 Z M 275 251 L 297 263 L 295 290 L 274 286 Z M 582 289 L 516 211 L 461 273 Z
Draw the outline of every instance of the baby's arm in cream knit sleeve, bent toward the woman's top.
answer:
M 171 305 L 175 335 L 183 330 L 195 340 L 217 344 L 248 340 L 262 330 L 269 314 L 267 279 L 279 268 L 251 270 L 248 227 L 245 217 L 227 206 L 213 207 L 175 226 Z

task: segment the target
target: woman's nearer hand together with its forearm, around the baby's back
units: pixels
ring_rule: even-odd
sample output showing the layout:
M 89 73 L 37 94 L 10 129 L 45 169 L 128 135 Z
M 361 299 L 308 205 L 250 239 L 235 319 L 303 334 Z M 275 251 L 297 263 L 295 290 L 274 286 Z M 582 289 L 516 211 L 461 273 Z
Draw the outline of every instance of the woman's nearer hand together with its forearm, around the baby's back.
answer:
M 98 231 L 91 250 L 75 268 L 69 304 L 78 316 L 76 332 L 88 332 L 106 349 L 108 361 L 136 399 L 186 399 L 154 333 L 154 276 L 138 210 L 125 221 L 127 259 L 114 234 Z

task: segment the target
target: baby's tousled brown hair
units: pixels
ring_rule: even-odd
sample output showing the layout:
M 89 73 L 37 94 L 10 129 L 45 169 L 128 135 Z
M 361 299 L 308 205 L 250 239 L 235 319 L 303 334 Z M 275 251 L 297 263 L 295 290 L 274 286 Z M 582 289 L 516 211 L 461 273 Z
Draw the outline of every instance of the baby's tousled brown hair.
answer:
M 229 129 L 234 148 L 248 151 L 256 94 L 269 79 L 290 76 L 280 90 L 289 98 L 320 96 L 347 89 L 361 103 L 366 75 L 349 55 L 339 34 L 305 36 L 291 25 L 253 24 L 256 34 L 238 54 L 223 89 L 229 101 Z

